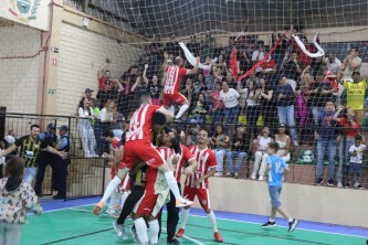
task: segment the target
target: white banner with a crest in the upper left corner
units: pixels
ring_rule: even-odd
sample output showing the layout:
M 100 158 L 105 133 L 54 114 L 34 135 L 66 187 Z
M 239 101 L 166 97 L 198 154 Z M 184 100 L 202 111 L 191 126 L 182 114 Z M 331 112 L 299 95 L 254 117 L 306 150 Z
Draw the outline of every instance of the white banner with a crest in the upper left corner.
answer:
M 48 31 L 49 3 L 50 0 L 0 0 L 0 17 Z

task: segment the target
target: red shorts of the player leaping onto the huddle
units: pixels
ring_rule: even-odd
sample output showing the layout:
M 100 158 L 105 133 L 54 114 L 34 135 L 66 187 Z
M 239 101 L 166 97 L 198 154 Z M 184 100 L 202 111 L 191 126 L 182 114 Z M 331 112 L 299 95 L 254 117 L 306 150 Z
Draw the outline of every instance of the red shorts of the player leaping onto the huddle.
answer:
M 119 169 L 132 169 L 139 161 L 157 169 L 166 163 L 161 155 L 156 150 L 151 142 L 145 140 L 126 141 L 124 145 L 124 157 L 119 163 Z

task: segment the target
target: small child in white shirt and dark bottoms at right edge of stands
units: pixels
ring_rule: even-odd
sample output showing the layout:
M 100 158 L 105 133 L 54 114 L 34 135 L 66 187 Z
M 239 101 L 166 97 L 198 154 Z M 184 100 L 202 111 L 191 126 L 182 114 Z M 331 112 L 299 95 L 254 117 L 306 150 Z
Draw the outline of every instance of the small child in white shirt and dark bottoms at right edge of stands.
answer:
M 365 151 L 367 147 L 366 145 L 362 145 L 361 141 L 362 137 L 360 135 L 356 135 L 354 145 L 349 148 L 350 164 L 346 188 L 354 184 L 354 188 L 362 189 L 360 183 L 362 174 L 362 151 Z

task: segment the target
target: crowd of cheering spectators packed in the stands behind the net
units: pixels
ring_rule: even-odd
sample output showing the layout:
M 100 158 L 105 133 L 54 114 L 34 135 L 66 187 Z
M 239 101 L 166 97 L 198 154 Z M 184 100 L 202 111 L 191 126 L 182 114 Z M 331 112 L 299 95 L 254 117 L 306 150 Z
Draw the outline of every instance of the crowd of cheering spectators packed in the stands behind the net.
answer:
M 190 107 L 180 125 L 175 125 L 185 145 L 194 143 L 198 128 L 208 125 L 211 131 L 211 148 L 218 160 L 218 177 L 239 177 L 243 160 L 253 156 L 254 166 L 251 179 L 263 180 L 265 170 L 265 146 L 277 141 L 277 155 L 286 162 L 293 159 L 291 152 L 299 145 L 317 146 L 316 182 L 323 183 L 325 150 L 328 152 L 328 185 L 335 181 L 343 187 L 343 168 L 349 162 L 348 152 L 357 136 L 361 135 L 364 122 L 367 82 L 360 75 L 361 58 L 359 49 L 351 47 L 340 61 L 334 51 L 326 51 L 322 57 L 309 57 L 295 43 L 293 31 L 274 33 L 270 46 L 262 40 L 254 45 L 230 39 L 229 45 L 219 47 L 215 38 L 208 31 L 201 42 L 190 36 L 187 47 L 201 63 L 211 64 L 211 70 L 199 70 L 182 81 L 181 94 L 188 98 Z M 315 52 L 314 44 L 301 35 L 306 50 Z M 269 60 L 249 74 L 271 46 L 276 49 Z M 236 71 L 230 68 L 236 50 Z M 80 103 L 80 135 L 94 134 L 94 142 L 83 141 L 86 157 L 102 156 L 103 132 L 106 129 L 122 134 L 119 121 L 128 120 L 136 109 L 136 97 L 147 90 L 153 103 L 161 104 L 165 74 L 161 67 L 164 52 L 172 65 L 176 56 L 187 62 L 175 34 L 165 44 L 156 35 L 153 43 L 137 57 L 119 78 L 112 78 L 106 63 L 98 71 L 96 99 L 86 89 Z M 88 122 L 83 122 L 87 118 Z M 92 131 L 92 128 L 94 130 Z M 91 137 L 90 137 L 91 138 Z M 94 149 L 92 149 L 94 148 Z M 252 149 L 252 150 L 250 150 Z M 338 149 L 338 151 L 337 151 Z M 336 152 L 339 172 L 335 178 Z M 227 160 L 228 172 L 224 173 Z M 233 164 L 233 160 L 236 164 Z

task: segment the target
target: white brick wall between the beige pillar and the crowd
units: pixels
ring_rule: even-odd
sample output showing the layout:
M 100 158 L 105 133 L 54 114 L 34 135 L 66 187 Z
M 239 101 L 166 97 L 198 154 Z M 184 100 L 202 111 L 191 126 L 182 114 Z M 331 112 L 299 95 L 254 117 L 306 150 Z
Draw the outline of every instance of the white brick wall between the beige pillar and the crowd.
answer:
M 87 29 L 63 23 L 59 58 L 57 115 L 75 115 L 84 89 L 97 95 L 97 71 L 108 57 L 107 67 L 118 78 L 136 63 L 141 50 L 91 32 Z

